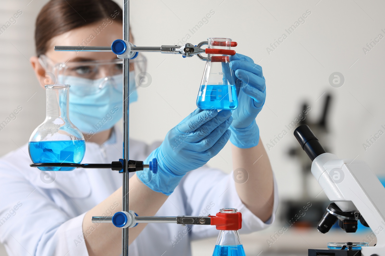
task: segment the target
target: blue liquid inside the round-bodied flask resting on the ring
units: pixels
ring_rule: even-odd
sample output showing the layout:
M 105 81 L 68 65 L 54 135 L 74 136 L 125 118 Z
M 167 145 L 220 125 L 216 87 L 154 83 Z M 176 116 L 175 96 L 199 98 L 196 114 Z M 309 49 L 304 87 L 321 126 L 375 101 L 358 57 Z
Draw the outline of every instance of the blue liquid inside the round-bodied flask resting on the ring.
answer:
M 50 140 L 28 143 L 28 152 L 34 163 L 82 162 L 85 152 L 84 140 Z M 42 171 L 72 171 L 74 167 L 37 167 Z

